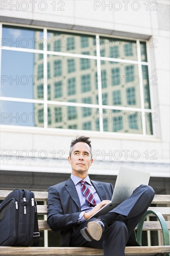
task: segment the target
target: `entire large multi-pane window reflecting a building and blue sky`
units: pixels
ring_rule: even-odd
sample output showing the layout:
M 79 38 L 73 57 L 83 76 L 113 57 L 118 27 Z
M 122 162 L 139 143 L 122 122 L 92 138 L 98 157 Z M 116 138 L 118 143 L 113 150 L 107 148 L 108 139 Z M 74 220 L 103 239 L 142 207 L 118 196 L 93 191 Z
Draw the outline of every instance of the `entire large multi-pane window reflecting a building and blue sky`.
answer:
M 3 26 L 2 29 L 1 95 L 5 102 L 3 106 L 9 106 L 8 101 L 11 100 L 13 106 L 17 106 L 16 109 L 18 106 L 21 109 L 22 106 L 32 106 L 33 113 L 36 113 L 33 123 L 28 121 L 21 125 L 44 128 L 46 123 L 45 127 L 48 128 L 92 131 L 99 131 L 101 128 L 101 131 L 105 132 L 132 134 L 143 134 L 142 128 L 145 127 L 147 135 L 153 134 L 154 113 L 150 110 L 145 41 L 141 41 L 139 45 L 138 40 L 100 35 L 99 40 L 96 40 L 95 35 L 53 30 L 48 30 L 47 38 L 44 39 L 45 32 L 39 28 L 20 26 Z M 99 66 L 96 60 L 97 46 L 100 48 Z M 18 47 L 18 51 L 15 47 Z M 138 59 L 137 47 L 141 53 L 142 63 L 140 58 Z M 43 56 L 46 57 L 46 50 L 47 65 L 44 65 L 46 58 Z M 70 54 L 72 56 L 69 56 Z M 85 58 L 79 54 L 83 54 Z M 116 62 L 111 58 L 119 60 Z M 138 74 L 138 70 L 141 69 L 142 77 Z M 142 95 L 140 85 L 144 92 Z M 18 98 L 23 102 L 18 102 Z M 25 103 L 25 99 L 30 102 Z M 36 100 L 34 104 L 33 99 Z M 81 103 L 81 107 L 77 107 L 77 103 Z M 86 104 L 91 105 L 87 108 Z M 102 119 L 96 105 L 103 109 Z M 108 109 L 114 108 L 111 106 L 118 106 L 118 110 Z M 141 106 L 144 106 L 144 109 Z M 125 110 L 120 110 L 120 107 L 124 107 Z M 30 111 L 28 109 L 26 107 L 26 111 Z M 47 109 L 47 114 L 44 113 L 44 109 Z M 137 112 L 138 109 L 140 111 Z M 11 113 L 18 115 L 14 111 L 15 109 L 11 108 Z M 141 113 L 144 111 L 145 119 L 142 119 Z M 11 124 L 7 121 L 8 115 L 11 114 L 7 112 L 3 115 L 4 123 Z M 13 116 L 12 124 L 16 124 Z M 20 121 L 16 125 L 20 125 Z

